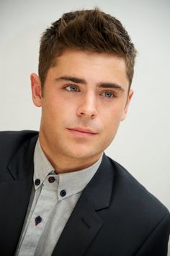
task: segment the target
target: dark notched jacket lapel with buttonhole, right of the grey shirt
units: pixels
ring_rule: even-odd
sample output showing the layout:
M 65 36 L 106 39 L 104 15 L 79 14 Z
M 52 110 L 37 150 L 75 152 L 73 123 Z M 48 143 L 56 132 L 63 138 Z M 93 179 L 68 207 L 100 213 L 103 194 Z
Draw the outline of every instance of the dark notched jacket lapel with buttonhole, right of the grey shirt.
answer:
M 53 256 L 84 255 L 97 232 L 102 228 L 103 221 L 98 212 L 109 207 L 113 175 L 111 163 L 104 155 L 97 173 L 84 189 L 63 229 Z

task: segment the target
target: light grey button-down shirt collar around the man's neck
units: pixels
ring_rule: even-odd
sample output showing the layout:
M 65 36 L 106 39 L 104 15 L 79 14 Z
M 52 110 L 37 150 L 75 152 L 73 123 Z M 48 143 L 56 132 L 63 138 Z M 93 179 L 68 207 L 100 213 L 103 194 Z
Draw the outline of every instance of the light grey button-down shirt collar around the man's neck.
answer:
M 37 144 L 35 146 L 34 162 L 34 184 L 36 179 L 40 179 L 40 184 L 38 186 L 35 185 L 35 189 L 41 186 L 42 182 L 47 179 L 49 174 L 52 174 L 58 181 L 58 200 L 62 200 L 66 197 L 81 192 L 86 187 L 86 185 L 90 182 L 97 169 L 99 168 L 99 165 L 102 162 L 102 156 L 96 163 L 94 163 L 92 166 L 89 166 L 88 168 L 63 174 L 55 174 L 53 166 L 48 161 L 48 158 L 46 158 L 45 153 L 42 151 L 40 140 L 37 140 Z M 61 196 L 62 190 L 66 191 L 66 195 L 64 197 Z

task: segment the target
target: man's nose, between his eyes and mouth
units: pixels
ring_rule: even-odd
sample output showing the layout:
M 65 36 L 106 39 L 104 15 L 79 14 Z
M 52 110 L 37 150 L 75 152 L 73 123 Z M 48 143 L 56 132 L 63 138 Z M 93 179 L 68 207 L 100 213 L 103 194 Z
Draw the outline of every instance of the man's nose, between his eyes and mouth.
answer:
M 94 119 L 97 116 L 97 102 L 95 95 L 87 93 L 84 98 L 81 98 L 81 102 L 77 109 L 78 116 L 84 118 Z

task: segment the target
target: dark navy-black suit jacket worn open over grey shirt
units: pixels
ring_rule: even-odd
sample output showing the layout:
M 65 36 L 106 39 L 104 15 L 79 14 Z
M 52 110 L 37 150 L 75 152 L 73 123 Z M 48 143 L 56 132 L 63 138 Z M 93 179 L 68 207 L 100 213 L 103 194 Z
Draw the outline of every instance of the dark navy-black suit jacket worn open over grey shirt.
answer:
M 17 248 L 34 172 L 37 132 L 0 132 L 0 255 Z M 165 256 L 169 211 L 104 155 L 53 256 Z M 42 255 L 43 256 L 43 255 Z

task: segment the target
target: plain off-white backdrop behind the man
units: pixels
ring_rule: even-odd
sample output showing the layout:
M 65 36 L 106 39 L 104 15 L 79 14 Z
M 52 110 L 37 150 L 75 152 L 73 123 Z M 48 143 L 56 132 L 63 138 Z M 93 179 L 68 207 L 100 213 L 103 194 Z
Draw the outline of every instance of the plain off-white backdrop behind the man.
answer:
M 30 73 L 40 35 L 63 12 L 94 6 L 117 17 L 138 49 L 133 101 L 106 153 L 170 210 L 169 0 L 0 0 L 0 130 L 39 129 Z

